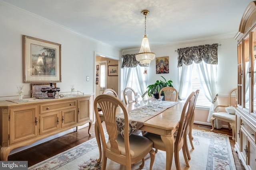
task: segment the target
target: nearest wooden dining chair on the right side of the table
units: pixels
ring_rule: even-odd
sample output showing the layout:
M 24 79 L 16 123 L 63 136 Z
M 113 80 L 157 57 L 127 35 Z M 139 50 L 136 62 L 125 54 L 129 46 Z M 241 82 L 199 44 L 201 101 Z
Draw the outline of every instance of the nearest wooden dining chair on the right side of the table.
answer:
M 186 145 L 184 145 L 184 138 L 186 138 L 186 129 L 188 129 L 188 126 L 190 126 L 190 119 L 192 116 L 192 111 L 193 111 L 193 106 L 194 106 L 194 100 L 196 99 L 196 92 L 192 92 L 190 96 L 187 98 L 183 109 L 182 113 L 180 116 L 180 124 L 178 127 L 178 133 L 175 139 L 174 143 L 174 160 L 175 160 L 175 165 L 176 169 L 180 170 L 180 158 L 179 158 L 179 151 L 182 149 L 184 160 L 186 162 L 186 166 L 189 167 L 188 164 L 188 158 L 186 156 Z M 164 142 L 161 139 L 160 135 L 154 134 L 154 133 L 149 133 L 146 132 L 143 135 L 144 137 L 147 137 L 151 141 L 153 141 L 153 148 L 155 149 L 160 149 L 166 151 L 166 147 L 164 145 Z M 166 160 L 168 161 L 168 160 Z

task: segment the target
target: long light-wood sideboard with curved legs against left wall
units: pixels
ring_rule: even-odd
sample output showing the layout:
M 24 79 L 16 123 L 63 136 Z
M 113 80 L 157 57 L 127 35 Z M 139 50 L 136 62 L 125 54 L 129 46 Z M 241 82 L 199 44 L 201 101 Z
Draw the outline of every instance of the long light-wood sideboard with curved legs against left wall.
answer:
M 59 99 L 0 101 L 0 160 L 8 160 L 12 149 L 89 123 L 90 95 Z M 18 101 L 18 100 L 17 100 Z

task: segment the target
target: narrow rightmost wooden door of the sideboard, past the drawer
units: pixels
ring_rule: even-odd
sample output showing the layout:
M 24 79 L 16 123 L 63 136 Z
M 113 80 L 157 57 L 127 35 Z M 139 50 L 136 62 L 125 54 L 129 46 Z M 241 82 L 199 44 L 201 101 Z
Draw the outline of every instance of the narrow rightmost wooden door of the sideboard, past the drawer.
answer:
M 82 122 L 90 119 L 90 98 L 78 100 L 78 119 L 77 122 Z

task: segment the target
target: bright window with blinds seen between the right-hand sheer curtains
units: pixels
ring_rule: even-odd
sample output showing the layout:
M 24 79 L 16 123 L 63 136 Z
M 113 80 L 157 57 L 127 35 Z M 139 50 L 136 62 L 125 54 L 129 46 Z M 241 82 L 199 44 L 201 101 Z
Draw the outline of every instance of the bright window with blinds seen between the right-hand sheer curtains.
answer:
M 206 98 L 206 95 L 200 84 L 200 78 L 199 78 L 199 71 L 197 70 L 198 67 L 196 66 L 197 64 L 193 63 L 189 66 L 191 66 L 192 68 L 190 68 L 192 70 L 191 73 L 191 77 L 190 74 L 186 76 L 186 83 L 190 84 L 191 87 L 189 87 L 188 92 L 182 93 L 182 96 L 180 96 L 180 98 L 183 101 L 186 101 L 187 95 L 190 94 L 191 92 L 195 92 L 197 89 L 200 90 L 197 101 L 196 101 L 196 106 L 202 106 L 202 107 L 210 107 L 212 105 L 212 103 Z M 188 66 L 188 67 L 189 67 Z M 216 64 L 207 64 L 208 67 L 210 67 L 209 69 L 212 70 L 212 73 L 214 74 L 214 77 L 216 77 L 217 75 L 217 65 Z M 179 67 L 179 77 L 181 76 L 181 69 L 182 67 Z M 188 70 L 190 70 L 188 69 Z M 210 73 L 208 73 L 210 74 Z M 191 81 L 191 82 L 189 82 Z M 203 82 L 204 83 L 204 82 Z M 204 83 L 203 86 L 206 86 L 207 84 Z M 184 87 L 185 88 L 185 87 Z M 184 89 L 184 91 L 186 91 Z

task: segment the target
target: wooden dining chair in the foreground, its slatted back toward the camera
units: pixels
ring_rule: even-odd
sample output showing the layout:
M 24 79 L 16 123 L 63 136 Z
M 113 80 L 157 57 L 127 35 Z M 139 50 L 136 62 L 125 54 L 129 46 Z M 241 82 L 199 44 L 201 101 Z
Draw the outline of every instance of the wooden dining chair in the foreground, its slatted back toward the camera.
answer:
M 152 170 L 156 154 L 152 148 L 153 142 L 140 135 L 131 134 L 129 136 L 128 111 L 122 101 L 107 94 L 97 96 L 94 100 L 94 110 L 96 121 L 101 122 L 97 104 L 102 108 L 109 136 L 109 140 L 106 141 L 102 123 L 98 123 L 102 143 L 102 170 L 106 169 L 107 158 L 125 165 L 126 170 L 131 170 L 132 164 L 142 160 L 140 165 L 140 169 L 142 169 L 144 167 L 144 157 L 148 153 L 150 153 L 150 170 Z M 116 109 L 118 106 L 121 107 L 124 113 L 124 137 L 117 132 Z

